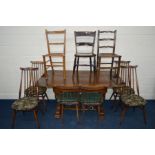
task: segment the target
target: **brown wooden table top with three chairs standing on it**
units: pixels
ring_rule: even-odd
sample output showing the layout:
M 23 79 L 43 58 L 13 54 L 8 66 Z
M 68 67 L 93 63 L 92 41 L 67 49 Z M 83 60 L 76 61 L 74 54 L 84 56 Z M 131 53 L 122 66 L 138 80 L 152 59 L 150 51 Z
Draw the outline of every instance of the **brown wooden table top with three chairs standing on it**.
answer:
M 115 85 L 115 80 L 110 79 L 110 73 L 106 71 L 90 72 L 90 71 L 78 71 L 73 72 L 71 70 L 66 71 L 66 80 L 63 79 L 62 71 L 49 70 L 47 78 L 42 77 L 39 80 L 40 85 L 46 85 L 48 88 L 54 86 L 75 86 L 75 85 L 104 85 L 105 87 L 111 88 Z

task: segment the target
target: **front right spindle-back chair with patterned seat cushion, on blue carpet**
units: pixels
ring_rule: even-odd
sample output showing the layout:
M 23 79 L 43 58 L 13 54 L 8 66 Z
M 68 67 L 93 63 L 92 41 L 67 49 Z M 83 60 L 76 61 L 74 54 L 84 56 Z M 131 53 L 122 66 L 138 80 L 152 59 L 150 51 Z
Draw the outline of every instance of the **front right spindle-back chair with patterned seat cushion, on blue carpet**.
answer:
M 122 124 L 125 114 L 129 108 L 140 108 L 143 111 L 144 123 L 147 123 L 146 119 L 146 100 L 139 94 L 139 84 L 137 78 L 137 66 L 129 66 L 129 84 L 130 89 L 124 89 L 121 95 L 121 101 L 123 103 L 123 110 L 121 112 L 120 125 Z

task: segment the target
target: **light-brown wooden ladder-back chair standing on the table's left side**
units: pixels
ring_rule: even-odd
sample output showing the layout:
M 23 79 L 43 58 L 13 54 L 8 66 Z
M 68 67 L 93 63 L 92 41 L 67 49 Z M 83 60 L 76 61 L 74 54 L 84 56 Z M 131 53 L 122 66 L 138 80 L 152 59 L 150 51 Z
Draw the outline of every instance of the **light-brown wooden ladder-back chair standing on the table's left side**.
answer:
M 54 71 L 55 68 L 61 67 L 66 79 L 66 30 L 45 30 L 45 34 L 48 49 L 48 54 L 43 55 L 45 75 L 47 76 L 48 68 Z

